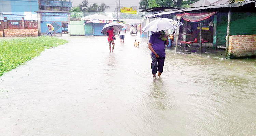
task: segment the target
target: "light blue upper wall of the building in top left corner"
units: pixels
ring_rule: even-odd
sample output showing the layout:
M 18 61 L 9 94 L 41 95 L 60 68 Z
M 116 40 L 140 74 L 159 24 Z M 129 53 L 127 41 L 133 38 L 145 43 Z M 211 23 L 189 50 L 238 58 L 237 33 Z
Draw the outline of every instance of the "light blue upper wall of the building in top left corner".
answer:
M 0 0 L 0 12 L 35 12 L 38 10 L 38 0 Z

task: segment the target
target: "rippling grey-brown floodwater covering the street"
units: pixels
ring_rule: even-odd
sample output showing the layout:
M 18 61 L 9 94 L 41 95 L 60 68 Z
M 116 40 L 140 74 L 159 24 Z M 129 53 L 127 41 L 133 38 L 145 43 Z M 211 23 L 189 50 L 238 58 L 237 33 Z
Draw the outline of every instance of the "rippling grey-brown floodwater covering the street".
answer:
M 256 59 L 167 49 L 153 78 L 139 35 L 65 39 L 0 77 L 1 136 L 256 135 Z

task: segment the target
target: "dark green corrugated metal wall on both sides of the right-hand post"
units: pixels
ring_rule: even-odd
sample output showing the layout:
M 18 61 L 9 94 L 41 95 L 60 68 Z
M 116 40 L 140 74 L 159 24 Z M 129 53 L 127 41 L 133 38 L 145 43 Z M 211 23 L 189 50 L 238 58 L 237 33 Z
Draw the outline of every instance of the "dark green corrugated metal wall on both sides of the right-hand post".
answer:
M 228 13 L 217 13 L 217 45 L 226 46 Z M 231 14 L 230 35 L 256 34 L 256 13 Z

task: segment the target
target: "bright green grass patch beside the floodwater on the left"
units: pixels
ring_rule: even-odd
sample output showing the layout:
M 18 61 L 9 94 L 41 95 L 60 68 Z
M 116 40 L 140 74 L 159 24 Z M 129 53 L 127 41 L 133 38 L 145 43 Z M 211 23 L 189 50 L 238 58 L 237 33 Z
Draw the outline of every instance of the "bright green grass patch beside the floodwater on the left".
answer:
M 45 48 L 56 47 L 67 42 L 67 40 L 48 36 L 0 39 L 0 76 L 39 56 Z

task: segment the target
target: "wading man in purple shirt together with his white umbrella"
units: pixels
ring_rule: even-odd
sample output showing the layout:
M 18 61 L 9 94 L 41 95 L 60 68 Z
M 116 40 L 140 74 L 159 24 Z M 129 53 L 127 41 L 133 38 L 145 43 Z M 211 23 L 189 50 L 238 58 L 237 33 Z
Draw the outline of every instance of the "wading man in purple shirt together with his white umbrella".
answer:
M 151 51 L 151 72 L 153 77 L 156 76 L 157 71 L 159 77 L 163 72 L 163 65 L 165 62 L 165 45 L 169 44 L 168 36 L 163 34 L 161 31 L 176 29 L 180 25 L 183 25 L 183 23 L 168 18 L 160 18 L 148 23 L 142 28 L 142 33 L 148 31 L 155 32 L 150 36 L 150 40 L 148 42 L 148 48 Z

